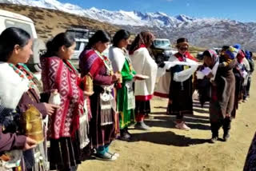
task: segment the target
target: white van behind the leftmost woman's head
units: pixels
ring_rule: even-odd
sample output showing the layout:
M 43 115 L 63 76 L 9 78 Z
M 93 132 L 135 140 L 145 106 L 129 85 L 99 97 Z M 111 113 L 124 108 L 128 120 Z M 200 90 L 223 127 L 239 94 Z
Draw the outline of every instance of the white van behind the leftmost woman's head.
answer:
M 27 66 L 30 68 L 32 72 L 40 71 L 40 67 L 38 66 L 39 55 L 42 53 L 42 50 L 46 50 L 45 43 L 38 39 L 38 35 L 36 33 L 34 22 L 21 14 L 15 14 L 10 11 L 0 10 L 0 34 L 3 30 L 9 27 L 18 27 L 23 30 L 26 30 L 30 36 L 34 39 L 33 43 L 33 57 L 30 58 Z

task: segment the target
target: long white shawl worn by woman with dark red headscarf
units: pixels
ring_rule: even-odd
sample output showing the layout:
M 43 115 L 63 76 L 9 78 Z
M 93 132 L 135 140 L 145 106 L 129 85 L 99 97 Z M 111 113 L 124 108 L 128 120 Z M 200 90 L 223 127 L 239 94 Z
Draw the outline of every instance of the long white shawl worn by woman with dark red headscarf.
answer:
M 146 80 L 135 81 L 135 96 L 153 95 L 158 65 L 151 58 L 149 51 L 145 47 L 135 50 L 134 54 L 130 55 L 130 59 L 137 74 L 150 77 Z

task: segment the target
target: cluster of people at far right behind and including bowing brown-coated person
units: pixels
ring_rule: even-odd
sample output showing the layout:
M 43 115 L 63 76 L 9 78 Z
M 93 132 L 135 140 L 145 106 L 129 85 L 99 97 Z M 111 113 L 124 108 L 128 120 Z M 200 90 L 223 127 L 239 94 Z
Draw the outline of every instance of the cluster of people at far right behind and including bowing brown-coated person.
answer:
M 223 46 L 219 54 L 213 50 L 204 52 L 204 66 L 216 68 L 210 79 L 210 126 L 211 141 L 218 140 L 218 129 L 223 129 L 223 140 L 230 137 L 231 120 L 238 104 L 245 102 L 250 93 L 249 78 L 254 71 L 254 62 L 240 46 Z M 250 64 L 249 64 L 250 63 Z M 201 69 L 203 70 L 203 69 Z M 213 79 L 214 78 L 214 79 Z

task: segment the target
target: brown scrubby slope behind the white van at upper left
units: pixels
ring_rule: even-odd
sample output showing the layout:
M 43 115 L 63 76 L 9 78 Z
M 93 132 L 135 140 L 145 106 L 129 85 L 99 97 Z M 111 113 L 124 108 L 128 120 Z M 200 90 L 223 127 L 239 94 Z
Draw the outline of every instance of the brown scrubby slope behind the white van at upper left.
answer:
M 2 3 L 0 3 L 0 9 L 22 14 L 31 18 L 34 21 L 38 37 L 42 38 L 44 41 L 53 38 L 60 32 L 66 31 L 66 29 L 72 25 L 87 26 L 90 29 L 106 30 L 110 34 L 114 34 L 114 32 L 118 30 L 118 26 L 112 26 L 106 22 L 98 22 L 90 18 L 79 17 L 58 10 Z

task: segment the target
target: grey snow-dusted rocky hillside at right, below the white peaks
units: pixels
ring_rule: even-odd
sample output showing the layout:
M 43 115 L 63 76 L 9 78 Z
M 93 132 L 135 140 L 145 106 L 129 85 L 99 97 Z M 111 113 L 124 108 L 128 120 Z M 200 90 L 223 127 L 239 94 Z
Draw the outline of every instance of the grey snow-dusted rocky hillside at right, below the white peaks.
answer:
M 240 43 L 243 48 L 255 51 L 256 23 L 235 21 L 201 21 L 200 23 L 184 23 L 176 28 L 149 26 L 121 26 L 134 33 L 140 30 L 151 30 L 161 38 L 170 38 L 175 43 L 177 38 L 188 38 L 194 46 L 212 48 Z

